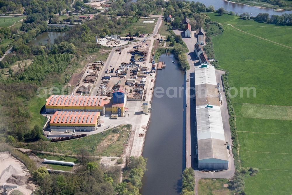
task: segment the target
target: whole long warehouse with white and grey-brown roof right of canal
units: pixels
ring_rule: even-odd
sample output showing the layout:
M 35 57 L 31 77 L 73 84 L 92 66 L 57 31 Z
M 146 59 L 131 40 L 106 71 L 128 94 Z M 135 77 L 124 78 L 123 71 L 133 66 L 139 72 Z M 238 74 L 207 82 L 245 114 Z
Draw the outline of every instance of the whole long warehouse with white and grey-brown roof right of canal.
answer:
M 198 168 L 228 169 L 228 157 L 214 66 L 195 67 Z

